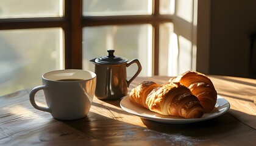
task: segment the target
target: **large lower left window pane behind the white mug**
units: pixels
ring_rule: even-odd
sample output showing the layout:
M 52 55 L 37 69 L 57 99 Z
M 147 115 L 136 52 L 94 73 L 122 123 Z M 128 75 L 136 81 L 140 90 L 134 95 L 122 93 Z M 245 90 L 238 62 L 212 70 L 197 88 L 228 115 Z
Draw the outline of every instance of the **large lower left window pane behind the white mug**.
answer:
M 41 85 L 44 72 L 63 68 L 62 29 L 0 31 L 0 96 Z

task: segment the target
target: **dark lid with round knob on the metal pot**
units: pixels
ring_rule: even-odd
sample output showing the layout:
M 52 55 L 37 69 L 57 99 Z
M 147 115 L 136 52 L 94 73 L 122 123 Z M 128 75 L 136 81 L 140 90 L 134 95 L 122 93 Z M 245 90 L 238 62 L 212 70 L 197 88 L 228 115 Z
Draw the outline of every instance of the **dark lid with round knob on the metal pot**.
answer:
M 95 62 L 99 64 L 121 64 L 128 61 L 126 58 L 115 56 L 115 50 L 107 50 L 107 52 L 107 56 L 96 58 Z

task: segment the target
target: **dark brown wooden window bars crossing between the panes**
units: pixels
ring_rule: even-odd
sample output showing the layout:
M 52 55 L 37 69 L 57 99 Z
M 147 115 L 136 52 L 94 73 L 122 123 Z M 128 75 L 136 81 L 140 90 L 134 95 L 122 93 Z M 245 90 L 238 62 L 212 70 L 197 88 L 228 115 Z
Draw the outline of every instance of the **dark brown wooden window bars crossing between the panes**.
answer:
M 160 15 L 160 0 L 152 0 L 152 15 L 82 16 L 82 0 L 63 0 L 63 17 L 0 19 L 0 30 L 61 27 L 65 69 L 82 69 L 82 28 L 88 26 L 151 24 L 152 75 L 158 75 L 160 24 L 172 23 L 172 15 Z

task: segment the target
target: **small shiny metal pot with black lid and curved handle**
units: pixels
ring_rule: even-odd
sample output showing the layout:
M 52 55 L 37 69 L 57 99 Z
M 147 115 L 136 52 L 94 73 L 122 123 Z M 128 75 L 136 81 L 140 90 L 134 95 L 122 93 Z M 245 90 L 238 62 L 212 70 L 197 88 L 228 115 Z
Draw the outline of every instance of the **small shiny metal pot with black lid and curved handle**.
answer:
M 102 100 L 117 100 L 127 95 L 127 88 L 134 78 L 140 74 L 141 64 L 138 59 L 129 62 L 126 58 L 114 55 L 115 50 L 107 50 L 108 55 L 90 60 L 95 64 L 96 91 L 95 96 Z M 126 68 L 136 63 L 138 70 L 127 80 Z

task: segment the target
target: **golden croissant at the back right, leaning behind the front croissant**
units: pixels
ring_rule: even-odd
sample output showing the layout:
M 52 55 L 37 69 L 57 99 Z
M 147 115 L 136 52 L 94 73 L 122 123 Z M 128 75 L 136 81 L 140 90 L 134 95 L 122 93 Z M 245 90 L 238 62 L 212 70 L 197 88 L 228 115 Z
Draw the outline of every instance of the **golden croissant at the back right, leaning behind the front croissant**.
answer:
M 209 113 L 215 108 L 217 92 L 212 81 L 206 75 L 187 71 L 176 78 L 170 78 L 169 83 L 171 82 L 179 82 L 190 89 L 192 94 L 199 99 L 205 113 Z

